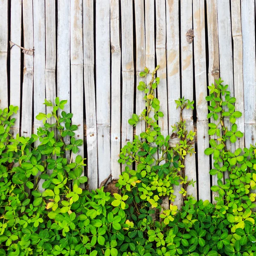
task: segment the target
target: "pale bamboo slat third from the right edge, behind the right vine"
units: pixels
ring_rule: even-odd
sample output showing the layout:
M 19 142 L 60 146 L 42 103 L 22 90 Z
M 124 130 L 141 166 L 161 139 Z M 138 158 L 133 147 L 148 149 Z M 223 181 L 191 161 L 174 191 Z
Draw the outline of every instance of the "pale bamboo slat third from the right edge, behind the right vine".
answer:
M 230 17 L 230 1 L 217 0 L 218 12 L 218 40 L 219 40 L 219 56 L 220 56 L 220 77 L 224 80 L 223 84 L 228 84 L 230 96 L 234 96 L 234 80 L 233 80 L 233 56 L 231 41 L 231 17 Z M 224 97 L 223 97 L 224 99 Z M 227 110 L 227 107 L 224 107 Z M 228 130 L 231 130 L 229 117 L 224 117 L 224 124 Z M 235 151 L 235 144 L 226 142 L 227 149 Z M 226 174 L 227 175 L 227 174 Z M 225 178 L 226 178 L 225 175 Z

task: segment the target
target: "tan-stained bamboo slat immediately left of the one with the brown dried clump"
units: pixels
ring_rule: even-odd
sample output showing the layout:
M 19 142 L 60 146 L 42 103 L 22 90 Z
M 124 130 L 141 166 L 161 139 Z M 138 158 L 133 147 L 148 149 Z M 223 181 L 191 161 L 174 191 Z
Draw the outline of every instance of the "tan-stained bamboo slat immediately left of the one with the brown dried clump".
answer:
M 179 38 L 179 3 L 166 1 L 166 50 L 167 50 L 167 93 L 169 134 L 172 134 L 172 125 L 180 121 L 180 111 L 176 108 L 175 100 L 180 98 L 180 42 Z M 161 89 L 161 84 L 160 84 Z M 171 140 L 175 147 L 178 138 Z M 179 193 L 181 185 L 174 186 L 175 205 L 180 209 L 183 205 L 183 196 Z

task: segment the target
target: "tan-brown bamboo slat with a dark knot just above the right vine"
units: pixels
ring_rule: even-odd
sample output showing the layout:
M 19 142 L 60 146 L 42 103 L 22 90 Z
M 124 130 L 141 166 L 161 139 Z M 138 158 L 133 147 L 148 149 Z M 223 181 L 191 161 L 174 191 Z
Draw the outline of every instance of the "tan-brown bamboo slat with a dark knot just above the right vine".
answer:
M 209 67 L 208 67 L 208 84 L 215 84 L 215 80 L 219 79 L 219 50 L 218 50 L 218 17 L 217 17 L 217 0 L 207 1 L 207 30 L 208 30 L 208 50 L 209 50 Z M 218 124 L 218 120 L 215 121 L 211 117 L 212 123 Z M 215 135 L 210 136 L 210 139 L 217 140 Z M 212 156 L 212 166 L 214 168 Z M 212 176 L 212 185 L 217 185 L 217 175 Z M 224 179 L 222 179 L 224 180 Z M 212 192 L 212 203 L 216 203 L 215 197 L 218 196 L 218 192 Z

